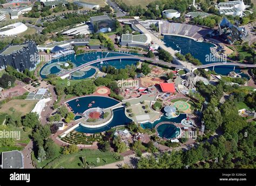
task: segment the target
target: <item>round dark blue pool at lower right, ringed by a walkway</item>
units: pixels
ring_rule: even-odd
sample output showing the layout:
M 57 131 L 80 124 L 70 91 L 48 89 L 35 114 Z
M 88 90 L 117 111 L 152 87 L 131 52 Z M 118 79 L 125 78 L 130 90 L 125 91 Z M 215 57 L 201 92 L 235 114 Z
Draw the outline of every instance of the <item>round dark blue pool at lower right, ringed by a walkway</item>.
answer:
M 180 130 L 172 124 L 162 124 L 157 127 L 157 132 L 161 138 L 176 138 L 179 136 Z

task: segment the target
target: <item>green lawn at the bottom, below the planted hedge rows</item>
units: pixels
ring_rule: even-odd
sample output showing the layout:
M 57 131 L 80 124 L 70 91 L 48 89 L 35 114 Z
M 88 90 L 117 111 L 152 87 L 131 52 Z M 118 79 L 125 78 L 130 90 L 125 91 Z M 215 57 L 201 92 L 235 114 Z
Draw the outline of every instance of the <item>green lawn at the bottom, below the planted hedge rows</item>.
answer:
M 82 157 L 85 157 L 90 167 L 103 166 L 104 164 L 123 160 L 123 156 L 118 159 L 117 155 L 112 152 L 83 149 L 75 154 L 62 155 L 45 166 L 45 168 L 82 168 Z

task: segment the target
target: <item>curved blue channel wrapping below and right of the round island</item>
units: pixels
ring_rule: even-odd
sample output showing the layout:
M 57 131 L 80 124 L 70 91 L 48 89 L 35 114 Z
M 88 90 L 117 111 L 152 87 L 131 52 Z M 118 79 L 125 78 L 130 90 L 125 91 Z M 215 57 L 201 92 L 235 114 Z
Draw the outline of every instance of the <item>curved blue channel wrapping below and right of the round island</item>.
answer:
M 98 133 L 98 132 L 104 132 L 104 131 L 110 130 L 112 127 L 127 125 L 131 123 L 131 121 L 132 121 L 131 119 L 125 116 L 124 108 L 117 108 L 117 109 L 113 109 L 113 119 L 109 124 L 102 127 L 97 127 L 97 128 L 88 128 L 88 127 L 79 125 L 77 128 L 75 128 L 75 130 L 78 132 L 84 132 L 84 133 Z

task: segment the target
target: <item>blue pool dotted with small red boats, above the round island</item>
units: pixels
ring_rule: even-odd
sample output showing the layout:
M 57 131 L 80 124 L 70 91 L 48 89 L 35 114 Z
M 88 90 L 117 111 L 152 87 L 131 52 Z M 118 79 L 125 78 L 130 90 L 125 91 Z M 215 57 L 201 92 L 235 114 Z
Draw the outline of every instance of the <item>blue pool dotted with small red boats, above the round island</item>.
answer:
M 111 106 L 114 106 L 119 103 L 119 101 L 109 98 L 109 97 L 104 97 L 104 96 L 86 96 L 86 97 L 80 97 L 76 99 L 72 99 L 71 101 L 67 102 L 69 106 L 73 109 L 73 113 L 83 113 L 84 111 L 91 109 L 91 108 L 110 108 Z M 92 103 L 92 102 L 95 103 Z M 92 104 L 91 107 L 89 107 L 89 104 Z M 78 104 L 80 106 L 78 106 Z

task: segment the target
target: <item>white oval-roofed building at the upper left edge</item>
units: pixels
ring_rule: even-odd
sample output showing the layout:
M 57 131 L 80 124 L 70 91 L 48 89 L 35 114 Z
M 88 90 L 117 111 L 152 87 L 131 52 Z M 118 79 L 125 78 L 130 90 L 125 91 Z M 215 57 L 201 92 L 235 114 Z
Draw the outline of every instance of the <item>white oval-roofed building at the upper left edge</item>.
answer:
M 25 32 L 26 30 L 28 30 L 28 27 L 23 23 L 14 23 L 14 24 L 7 25 L 0 28 L 0 35 L 3 35 L 3 36 L 17 35 L 22 32 Z

